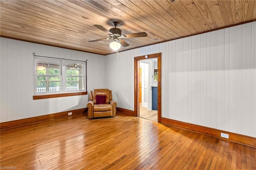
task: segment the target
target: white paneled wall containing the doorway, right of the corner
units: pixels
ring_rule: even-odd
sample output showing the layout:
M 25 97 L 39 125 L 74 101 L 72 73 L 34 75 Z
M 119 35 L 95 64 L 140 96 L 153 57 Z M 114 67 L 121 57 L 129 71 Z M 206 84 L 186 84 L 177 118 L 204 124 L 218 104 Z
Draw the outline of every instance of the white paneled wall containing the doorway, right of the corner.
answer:
M 133 57 L 159 52 L 162 117 L 256 137 L 256 22 L 108 55 L 118 107 L 134 110 Z

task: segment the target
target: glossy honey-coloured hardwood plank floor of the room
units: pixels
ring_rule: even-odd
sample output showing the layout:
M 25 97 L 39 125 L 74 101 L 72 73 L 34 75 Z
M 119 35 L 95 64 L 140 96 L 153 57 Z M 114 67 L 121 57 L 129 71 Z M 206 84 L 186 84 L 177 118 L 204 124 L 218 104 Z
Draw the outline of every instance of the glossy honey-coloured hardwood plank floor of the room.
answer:
M 18 170 L 256 169 L 256 148 L 122 113 L 2 129 L 0 165 Z

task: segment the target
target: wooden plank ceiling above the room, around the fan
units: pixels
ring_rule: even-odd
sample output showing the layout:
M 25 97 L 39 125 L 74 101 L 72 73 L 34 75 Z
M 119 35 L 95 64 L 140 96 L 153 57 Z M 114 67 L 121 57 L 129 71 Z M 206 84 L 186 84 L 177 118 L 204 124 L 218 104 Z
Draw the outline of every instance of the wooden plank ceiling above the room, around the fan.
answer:
M 123 39 L 119 51 L 166 42 L 201 32 L 256 20 L 255 0 L 1 0 L 0 34 L 90 53 L 114 53 L 112 40 L 94 25 L 122 34 L 146 32 L 147 37 Z

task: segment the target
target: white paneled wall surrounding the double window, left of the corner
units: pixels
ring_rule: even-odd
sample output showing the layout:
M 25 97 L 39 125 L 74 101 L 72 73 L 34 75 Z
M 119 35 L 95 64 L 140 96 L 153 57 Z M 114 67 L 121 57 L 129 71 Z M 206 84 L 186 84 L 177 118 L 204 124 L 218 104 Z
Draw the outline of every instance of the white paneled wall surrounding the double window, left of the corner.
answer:
M 0 122 L 86 107 L 88 95 L 33 100 L 36 55 L 87 61 L 87 89 L 104 88 L 105 56 L 70 49 L 0 39 Z

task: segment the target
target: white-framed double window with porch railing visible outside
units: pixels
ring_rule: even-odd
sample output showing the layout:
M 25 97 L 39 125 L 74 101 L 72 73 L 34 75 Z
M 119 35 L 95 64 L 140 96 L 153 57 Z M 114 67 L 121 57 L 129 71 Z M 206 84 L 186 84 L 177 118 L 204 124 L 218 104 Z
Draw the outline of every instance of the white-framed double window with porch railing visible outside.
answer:
M 85 63 L 35 56 L 35 95 L 86 91 Z

